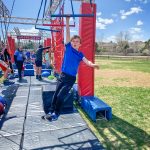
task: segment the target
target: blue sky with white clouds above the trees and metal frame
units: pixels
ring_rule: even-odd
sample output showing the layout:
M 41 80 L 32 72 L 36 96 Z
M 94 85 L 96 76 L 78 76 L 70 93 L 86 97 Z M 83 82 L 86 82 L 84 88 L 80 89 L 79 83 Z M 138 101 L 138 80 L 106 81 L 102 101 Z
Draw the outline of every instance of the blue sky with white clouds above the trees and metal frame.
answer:
M 11 10 L 13 0 L 3 0 Z M 36 18 L 41 0 L 16 0 L 12 16 Z M 150 0 L 95 0 L 97 4 L 96 40 L 115 41 L 120 32 L 128 32 L 130 41 L 150 39 Z M 74 2 L 74 10 L 79 13 L 79 2 Z M 69 13 L 69 0 L 65 2 L 65 12 Z M 78 19 L 76 19 L 78 24 Z M 34 26 L 11 25 L 21 31 L 33 31 Z M 71 28 L 78 34 L 78 25 Z

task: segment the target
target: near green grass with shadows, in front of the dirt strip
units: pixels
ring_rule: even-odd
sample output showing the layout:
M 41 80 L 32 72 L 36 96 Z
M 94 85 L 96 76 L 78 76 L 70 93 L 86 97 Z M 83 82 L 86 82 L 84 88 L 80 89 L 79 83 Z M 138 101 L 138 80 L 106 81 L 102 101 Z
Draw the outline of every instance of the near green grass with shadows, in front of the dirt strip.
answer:
M 112 121 L 94 124 L 107 148 L 150 146 L 150 88 L 103 87 L 96 95 L 113 108 Z

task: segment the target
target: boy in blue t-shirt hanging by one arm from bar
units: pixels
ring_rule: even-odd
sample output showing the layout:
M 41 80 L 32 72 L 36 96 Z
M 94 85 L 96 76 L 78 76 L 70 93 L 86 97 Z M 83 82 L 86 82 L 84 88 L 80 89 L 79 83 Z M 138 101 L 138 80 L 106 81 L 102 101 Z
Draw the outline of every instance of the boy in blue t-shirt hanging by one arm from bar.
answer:
M 83 61 L 89 67 L 99 69 L 99 65 L 92 63 L 87 58 L 85 58 L 82 52 L 78 51 L 81 45 L 80 36 L 74 35 L 70 39 L 69 19 L 70 17 L 66 17 L 67 44 L 65 45 L 65 53 L 61 69 L 62 73 L 60 78 L 58 78 L 56 91 L 52 98 L 50 112 L 45 116 L 46 119 L 51 121 L 57 120 L 60 115 L 64 99 L 76 81 L 76 75 L 80 62 Z

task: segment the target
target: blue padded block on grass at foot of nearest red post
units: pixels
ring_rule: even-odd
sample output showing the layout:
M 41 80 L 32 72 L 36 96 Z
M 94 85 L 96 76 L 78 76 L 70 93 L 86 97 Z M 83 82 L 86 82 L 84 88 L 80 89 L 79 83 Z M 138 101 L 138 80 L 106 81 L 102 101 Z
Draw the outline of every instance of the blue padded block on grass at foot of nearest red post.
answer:
M 81 97 L 81 106 L 89 117 L 96 122 L 96 113 L 100 111 L 106 111 L 106 119 L 112 119 L 112 108 L 103 102 L 101 99 L 95 96 L 83 96 Z

